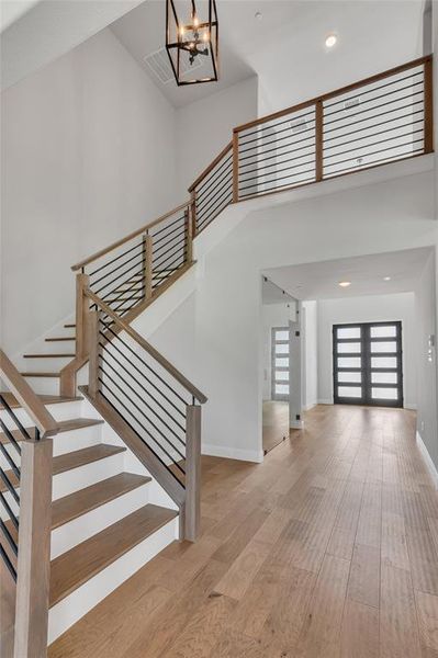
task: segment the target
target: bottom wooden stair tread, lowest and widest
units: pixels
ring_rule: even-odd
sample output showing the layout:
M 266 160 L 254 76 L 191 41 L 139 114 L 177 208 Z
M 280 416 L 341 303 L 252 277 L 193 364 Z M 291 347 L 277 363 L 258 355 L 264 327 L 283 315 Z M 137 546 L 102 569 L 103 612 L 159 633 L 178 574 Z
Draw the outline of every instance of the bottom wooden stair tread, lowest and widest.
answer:
M 50 606 L 65 599 L 176 515 L 175 510 L 146 504 L 52 560 Z

